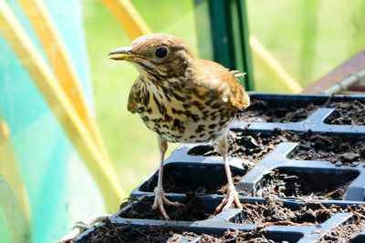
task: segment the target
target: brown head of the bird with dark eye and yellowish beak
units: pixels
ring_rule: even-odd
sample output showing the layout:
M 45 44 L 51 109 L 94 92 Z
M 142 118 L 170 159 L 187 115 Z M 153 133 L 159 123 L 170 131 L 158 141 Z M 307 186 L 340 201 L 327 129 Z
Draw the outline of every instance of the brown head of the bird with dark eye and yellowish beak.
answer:
M 110 52 L 110 59 L 129 61 L 141 75 L 181 76 L 193 62 L 193 52 L 179 38 L 167 34 L 142 35 L 131 46 Z

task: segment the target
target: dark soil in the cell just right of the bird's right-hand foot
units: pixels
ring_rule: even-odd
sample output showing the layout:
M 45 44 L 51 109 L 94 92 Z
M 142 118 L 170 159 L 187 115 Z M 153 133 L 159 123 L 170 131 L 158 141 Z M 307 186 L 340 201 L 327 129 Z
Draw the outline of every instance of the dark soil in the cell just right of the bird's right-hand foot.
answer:
M 278 169 L 264 177 L 265 185 L 257 190 L 258 197 L 300 197 L 302 199 L 341 200 L 350 181 L 356 177 L 339 177 L 336 184 L 326 186 L 312 182 L 299 173 L 287 173 Z

